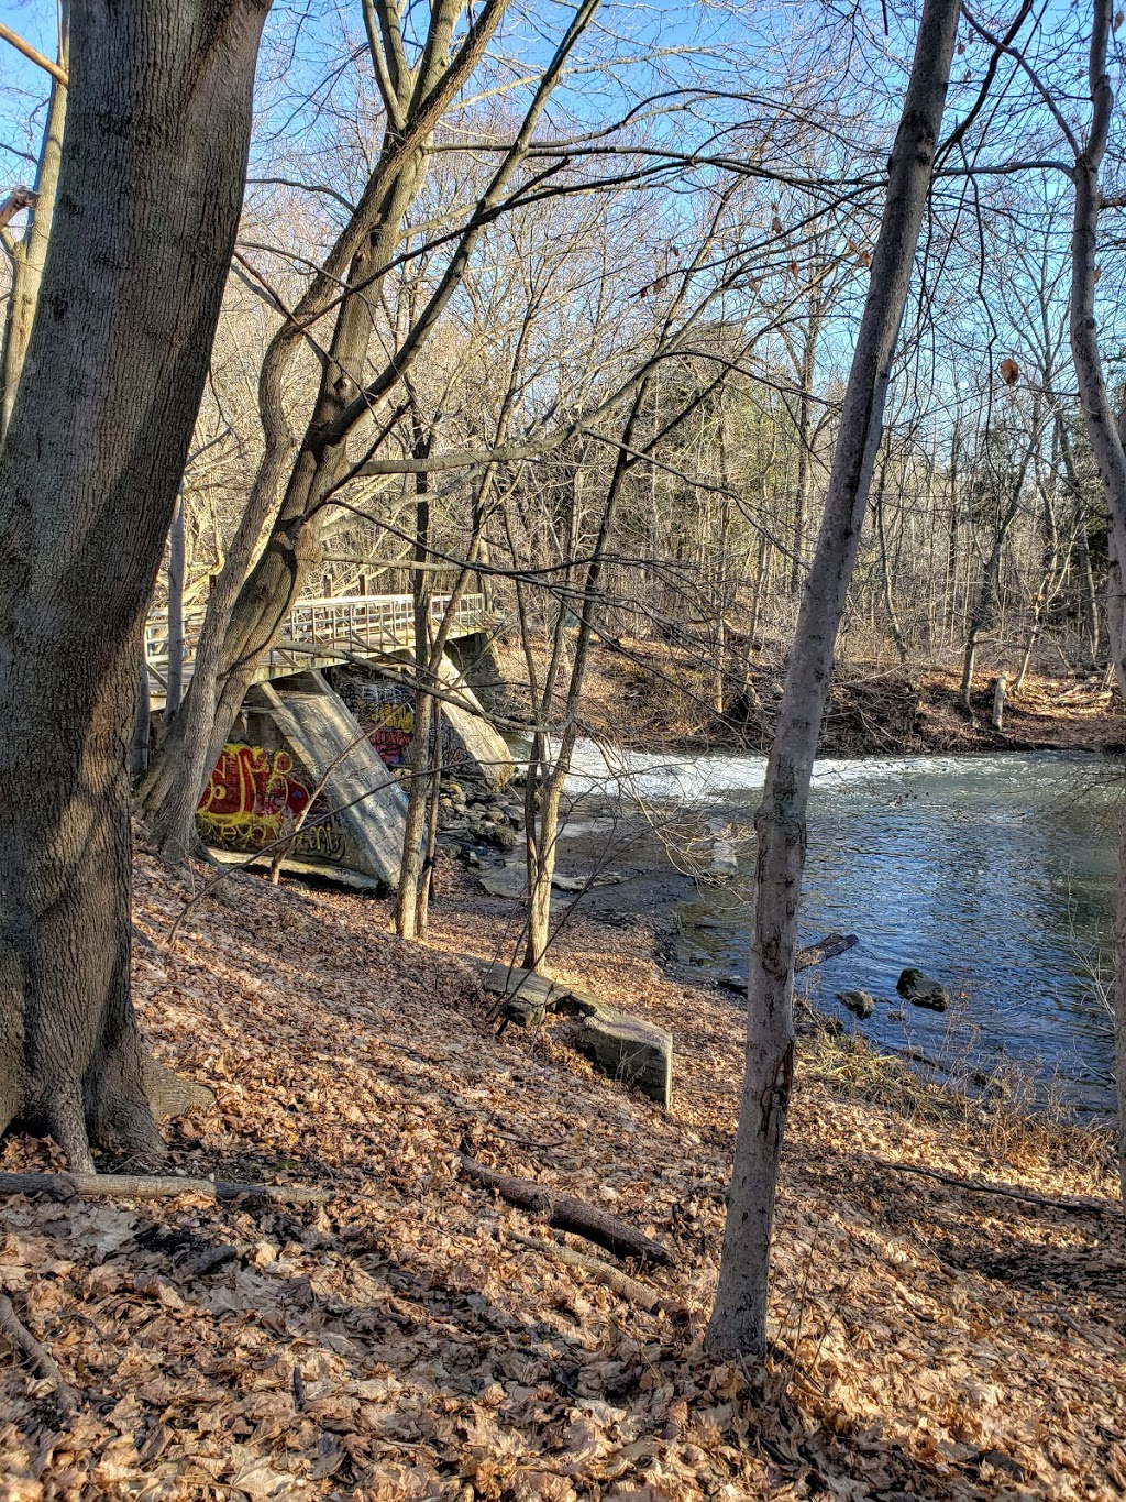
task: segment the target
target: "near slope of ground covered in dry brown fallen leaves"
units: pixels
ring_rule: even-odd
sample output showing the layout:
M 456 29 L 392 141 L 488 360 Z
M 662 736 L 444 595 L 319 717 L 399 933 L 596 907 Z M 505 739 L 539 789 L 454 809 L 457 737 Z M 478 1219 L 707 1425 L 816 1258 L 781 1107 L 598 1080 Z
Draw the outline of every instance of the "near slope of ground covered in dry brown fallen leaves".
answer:
M 170 1123 L 171 1172 L 335 1197 L 3 1202 L 0 1283 L 83 1397 L 66 1418 L 0 1356 L 3 1502 L 1126 1494 L 1105 1139 L 812 1027 L 773 1353 L 752 1380 L 701 1350 L 739 1006 L 670 978 L 646 918 L 604 913 L 572 924 L 552 967 L 673 1030 L 671 1111 L 593 1074 L 574 1021 L 498 1039 L 461 955 L 503 955 L 518 907 L 440 871 L 429 948 L 390 936 L 387 903 L 248 874 L 170 943 L 189 888 L 138 855 L 138 1006 L 161 1057 L 218 1093 Z M 461 1176 L 462 1146 L 673 1248 L 676 1266 L 632 1269 L 659 1307 L 560 1262 L 533 1215 Z M 14 1139 L 0 1167 L 62 1164 Z

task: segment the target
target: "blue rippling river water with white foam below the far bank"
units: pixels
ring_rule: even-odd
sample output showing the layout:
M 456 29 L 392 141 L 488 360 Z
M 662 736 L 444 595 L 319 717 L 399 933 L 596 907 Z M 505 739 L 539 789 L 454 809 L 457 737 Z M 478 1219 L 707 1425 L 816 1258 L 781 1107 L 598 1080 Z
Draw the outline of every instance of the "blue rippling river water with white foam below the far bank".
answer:
M 670 873 L 692 859 L 707 865 L 716 840 L 731 843 L 737 876 L 685 880 L 676 907 L 682 958 L 719 976 L 746 975 L 751 820 L 764 768 L 763 757 L 721 754 L 634 754 L 608 766 L 587 745 L 569 784 L 572 832 L 613 826 L 622 841 L 608 810 L 623 799 L 635 825 L 644 810 L 658 831 L 644 861 Z M 802 942 L 832 928 L 860 942 L 808 972 L 817 1005 L 881 1045 L 1001 1068 L 1079 1116 L 1108 1111 L 1100 991 L 1111 973 L 1118 780 L 1118 762 L 1057 753 L 818 762 Z M 950 1011 L 902 1006 L 895 982 L 908 964 L 949 987 Z M 868 1021 L 839 1008 L 844 988 L 878 999 Z

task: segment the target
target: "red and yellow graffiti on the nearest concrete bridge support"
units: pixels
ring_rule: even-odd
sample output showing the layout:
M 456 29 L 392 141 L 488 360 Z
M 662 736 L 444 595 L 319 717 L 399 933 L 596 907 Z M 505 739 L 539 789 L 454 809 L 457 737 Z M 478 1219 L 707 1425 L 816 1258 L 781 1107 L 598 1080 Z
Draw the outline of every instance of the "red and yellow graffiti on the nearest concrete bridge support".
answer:
M 195 810 L 195 822 L 207 844 L 252 855 L 290 834 L 306 808 L 309 789 L 293 775 L 287 751 L 228 742 Z M 309 808 L 293 853 L 344 859 L 344 834 L 320 799 Z

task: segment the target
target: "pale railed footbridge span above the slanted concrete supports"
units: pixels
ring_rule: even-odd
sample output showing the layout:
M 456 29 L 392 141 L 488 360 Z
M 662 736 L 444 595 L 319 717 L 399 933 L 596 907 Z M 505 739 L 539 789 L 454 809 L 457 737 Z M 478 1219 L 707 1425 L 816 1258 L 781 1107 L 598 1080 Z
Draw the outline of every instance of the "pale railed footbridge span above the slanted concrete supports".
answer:
M 452 595 L 435 595 L 429 619 L 437 631 L 450 607 Z M 192 674 L 195 641 L 203 625 L 203 610 L 185 611 L 183 685 Z M 485 608 L 483 595 L 462 595 L 455 605 L 450 640 L 477 635 L 495 625 Z M 351 658 L 378 661 L 414 647 L 414 601 L 410 595 L 335 595 L 300 599 L 291 610 L 285 631 L 258 664 L 255 683 L 288 677 L 309 668 L 332 667 Z M 168 686 L 168 613 L 155 611 L 144 629 L 144 656 L 153 709 L 164 704 Z

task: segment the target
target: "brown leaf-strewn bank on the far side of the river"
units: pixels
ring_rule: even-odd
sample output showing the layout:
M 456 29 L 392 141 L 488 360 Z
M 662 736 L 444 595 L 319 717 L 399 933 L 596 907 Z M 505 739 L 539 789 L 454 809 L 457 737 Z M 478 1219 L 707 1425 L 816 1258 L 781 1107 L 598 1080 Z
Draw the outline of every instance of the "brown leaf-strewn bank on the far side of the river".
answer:
M 504 662 L 518 682 L 515 653 L 507 650 Z M 991 724 L 997 670 L 986 667 L 977 674 L 971 712 L 958 700 L 959 677 L 941 665 L 905 668 L 845 658 L 833 674 L 821 754 L 1126 748 L 1126 706 L 1117 691 L 1102 686 L 1100 674 L 1030 673 L 1021 694 L 1009 694 L 1000 731 Z M 752 671 L 757 703 L 737 700 L 727 715 L 718 715 L 715 677 L 701 668 L 697 652 L 661 641 L 599 643 L 592 652 L 583 712 L 595 734 L 617 745 L 766 751 L 782 679 L 781 656 L 764 652 Z

